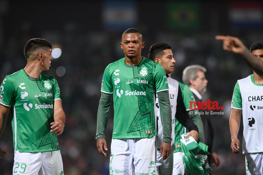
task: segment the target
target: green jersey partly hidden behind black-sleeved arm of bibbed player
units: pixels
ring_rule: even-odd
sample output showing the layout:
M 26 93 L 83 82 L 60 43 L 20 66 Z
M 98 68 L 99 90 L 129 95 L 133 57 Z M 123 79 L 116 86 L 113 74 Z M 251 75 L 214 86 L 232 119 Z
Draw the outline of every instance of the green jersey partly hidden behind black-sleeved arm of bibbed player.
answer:
M 184 105 L 186 107 L 186 110 L 189 111 L 190 110 L 189 101 L 195 101 L 195 98 L 188 85 L 185 85 L 181 82 L 178 82 L 178 83 L 181 88 Z M 181 125 L 178 122 L 178 120 L 175 118 L 175 141 L 174 142 L 175 142 L 175 146 L 178 145 L 178 147 L 176 147 L 175 149 L 175 152 L 181 151 L 181 147 L 179 146 L 181 144 L 180 139 L 181 139 L 181 135 L 185 132 L 186 132 L 186 128 L 183 125 Z

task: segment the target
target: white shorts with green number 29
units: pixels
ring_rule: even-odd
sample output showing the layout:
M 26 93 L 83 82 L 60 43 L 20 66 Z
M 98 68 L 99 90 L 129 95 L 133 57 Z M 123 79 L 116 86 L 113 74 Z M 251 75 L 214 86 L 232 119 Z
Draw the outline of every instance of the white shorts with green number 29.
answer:
M 60 151 L 20 153 L 15 151 L 13 175 L 62 175 Z

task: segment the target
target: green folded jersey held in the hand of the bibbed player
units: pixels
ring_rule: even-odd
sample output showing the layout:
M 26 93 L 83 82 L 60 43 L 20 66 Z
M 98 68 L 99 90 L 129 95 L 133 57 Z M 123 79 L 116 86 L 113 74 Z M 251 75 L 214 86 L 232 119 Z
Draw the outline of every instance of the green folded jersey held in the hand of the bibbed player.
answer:
M 188 175 L 207 175 L 212 171 L 207 163 L 208 146 L 197 143 L 193 137 L 185 139 L 188 133 L 181 135 L 181 150 L 185 170 Z

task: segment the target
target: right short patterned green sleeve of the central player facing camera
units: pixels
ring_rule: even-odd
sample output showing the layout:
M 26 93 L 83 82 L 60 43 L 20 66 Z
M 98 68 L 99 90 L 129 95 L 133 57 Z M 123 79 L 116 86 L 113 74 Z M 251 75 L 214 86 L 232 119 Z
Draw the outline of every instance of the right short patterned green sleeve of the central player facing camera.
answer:
M 156 65 L 154 79 L 156 82 L 156 92 L 169 90 L 166 73 L 160 64 Z

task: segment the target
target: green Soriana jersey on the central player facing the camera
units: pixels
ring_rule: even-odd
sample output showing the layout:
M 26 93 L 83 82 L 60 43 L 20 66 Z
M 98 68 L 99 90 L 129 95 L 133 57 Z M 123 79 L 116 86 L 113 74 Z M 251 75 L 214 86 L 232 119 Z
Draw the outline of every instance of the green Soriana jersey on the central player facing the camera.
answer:
M 145 57 L 137 66 L 126 66 L 125 58 L 109 64 L 103 74 L 101 91 L 113 94 L 112 138 L 155 136 L 155 92 L 168 89 L 162 66 Z

